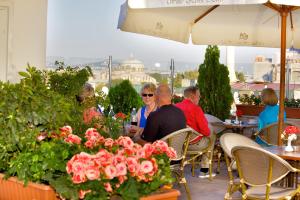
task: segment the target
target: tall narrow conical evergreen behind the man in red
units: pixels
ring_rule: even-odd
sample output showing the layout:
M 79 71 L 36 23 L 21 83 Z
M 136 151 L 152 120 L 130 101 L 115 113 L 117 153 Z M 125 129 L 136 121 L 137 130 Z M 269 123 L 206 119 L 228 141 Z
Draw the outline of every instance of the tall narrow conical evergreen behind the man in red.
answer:
M 199 104 L 206 113 L 224 120 L 230 115 L 233 96 L 228 68 L 220 64 L 219 59 L 219 48 L 209 45 L 204 63 L 198 70 L 198 87 L 201 93 Z

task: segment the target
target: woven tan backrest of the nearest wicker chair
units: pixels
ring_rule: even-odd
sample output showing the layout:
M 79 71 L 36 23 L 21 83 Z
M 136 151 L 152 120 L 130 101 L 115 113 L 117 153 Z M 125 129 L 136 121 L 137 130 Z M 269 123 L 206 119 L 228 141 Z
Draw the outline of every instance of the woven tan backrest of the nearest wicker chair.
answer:
M 251 186 L 270 186 L 295 171 L 288 162 L 263 148 L 236 146 L 231 154 L 237 162 L 241 180 Z

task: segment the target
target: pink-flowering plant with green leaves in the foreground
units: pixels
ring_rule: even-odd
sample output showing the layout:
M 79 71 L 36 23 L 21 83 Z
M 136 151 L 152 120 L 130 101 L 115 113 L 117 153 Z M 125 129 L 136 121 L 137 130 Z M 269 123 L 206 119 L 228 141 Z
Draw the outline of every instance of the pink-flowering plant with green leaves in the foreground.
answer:
M 63 198 L 139 199 L 173 181 L 169 158 L 176 157 L 176 152 L 163 141 L 142 147 L 129 137 L 104 138 L 94 128 L 81 138 L 70 127 L 63 127 L 60 133 L 43 133 L 37 140 L 41 145 L 21 152 L 11 161 L 8 174 L 25 184 L 48 182 Z M 55 199 L 53 190 L 47 192 Z

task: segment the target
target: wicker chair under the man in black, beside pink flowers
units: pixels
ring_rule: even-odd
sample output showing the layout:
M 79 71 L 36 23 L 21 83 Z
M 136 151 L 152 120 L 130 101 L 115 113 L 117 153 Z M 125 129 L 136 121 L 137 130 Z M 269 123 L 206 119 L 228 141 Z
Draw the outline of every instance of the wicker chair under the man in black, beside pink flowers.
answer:
M 191 194 L 184 176 L 184 166 L 186 165 L 185 158 L 191 131 L 191 128 L 184 128 L 161 139 L 167 142 L 168 145 L 173 147 L 177 152 L 177 157 L 171 160 L 171 170 L 175 175 L 177 182 L 184 184 L 188 199 L 191 199 Z

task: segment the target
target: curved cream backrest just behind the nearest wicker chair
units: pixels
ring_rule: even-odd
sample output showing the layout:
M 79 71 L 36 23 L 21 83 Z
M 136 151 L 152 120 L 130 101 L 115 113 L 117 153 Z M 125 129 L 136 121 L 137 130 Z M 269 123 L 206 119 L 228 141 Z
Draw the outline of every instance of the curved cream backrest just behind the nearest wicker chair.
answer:
M 254 146 L 260 148 L 260 145 L 250 138 L 237 133 L 224 133 L 220 137 L 220 144 L 223 151 L 232 158 L 231 149 L 236 146 Z

